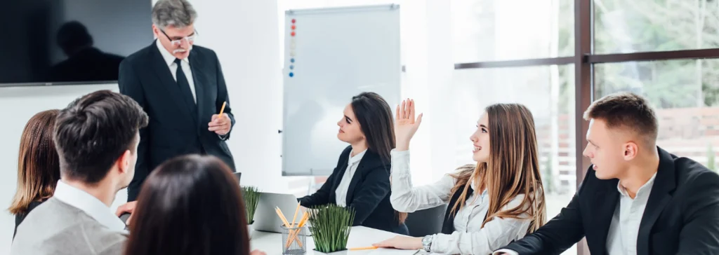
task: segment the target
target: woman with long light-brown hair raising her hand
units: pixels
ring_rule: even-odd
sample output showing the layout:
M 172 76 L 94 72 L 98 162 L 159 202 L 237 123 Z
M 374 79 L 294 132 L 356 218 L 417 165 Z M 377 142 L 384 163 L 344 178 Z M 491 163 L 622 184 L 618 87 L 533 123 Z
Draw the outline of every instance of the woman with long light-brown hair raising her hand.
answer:
M 491 254 L 544 225 L 544 191 L 531 112 L 517 103 L 485 108 L 470 136 L 476 165 L 459 167 L 431 185 L 413 187 L 409 143 L 422 122 L 413 100 L 397 107 L 392 152 L 395 210 L 448 204 L 441 233 L 420 238 L 397 236 L 375 244 L 396 249 L 424 249 L 437 254 Z

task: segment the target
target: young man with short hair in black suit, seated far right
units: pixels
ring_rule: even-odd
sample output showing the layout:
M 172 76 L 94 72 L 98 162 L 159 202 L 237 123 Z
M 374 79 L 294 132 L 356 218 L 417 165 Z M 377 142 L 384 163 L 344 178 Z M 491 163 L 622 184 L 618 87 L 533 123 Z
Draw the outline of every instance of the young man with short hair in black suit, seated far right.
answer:
M 574 198 L 495 254 L 559 254 L 583 237 L 591 254 L 719 254 L 719 175 L 656 147 L 646 99 L 605 96 L 585 119 L 592 166 Z

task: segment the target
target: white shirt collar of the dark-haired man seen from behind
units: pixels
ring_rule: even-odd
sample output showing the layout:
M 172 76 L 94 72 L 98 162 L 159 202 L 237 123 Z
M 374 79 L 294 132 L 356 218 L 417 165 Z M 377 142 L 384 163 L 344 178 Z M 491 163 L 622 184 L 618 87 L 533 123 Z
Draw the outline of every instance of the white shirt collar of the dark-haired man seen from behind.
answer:
M 52 197 L 82 210 L 112 231 L 124 231 L 125 223 L 114 215 L 107 205 L 93 195 L 70 186 L 62 180 L 58 181 L 58 187 L 55 187 L 55 194 Z

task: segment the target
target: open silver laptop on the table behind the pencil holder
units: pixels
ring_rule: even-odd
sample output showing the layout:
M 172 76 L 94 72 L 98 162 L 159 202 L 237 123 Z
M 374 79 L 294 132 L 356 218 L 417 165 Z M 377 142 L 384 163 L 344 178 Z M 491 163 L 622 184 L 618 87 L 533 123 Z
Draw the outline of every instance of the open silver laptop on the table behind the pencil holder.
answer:
M 283 215 L 291 224 L 297 209 L 297 198 L 292 194 L 260 193 L 260 201 L 257 202 L 257 210 L 255 211 L 255 223 L 252 223 L 252 228 L 255 228 L 256 231 L 282 233 L 284 223 L 275 212 L 275 207 L 282 210 Z M 297 213 L 295 223 L 300 222 L 302 213 L 302 211 Z M 305 233 L 310 236 L 307 226 L 308 223 L 305 224 Z

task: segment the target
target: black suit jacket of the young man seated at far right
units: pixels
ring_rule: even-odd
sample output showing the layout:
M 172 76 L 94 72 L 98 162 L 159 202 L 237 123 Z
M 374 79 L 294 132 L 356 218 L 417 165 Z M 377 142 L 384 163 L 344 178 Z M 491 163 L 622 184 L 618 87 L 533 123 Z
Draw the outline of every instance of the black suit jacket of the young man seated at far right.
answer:
M 657 147 L 659 170 L 641 218 L 637 254 L 719 254 L 719 175 Z M 599 180 L 590 167 L 566 208 L 535 233 L 503 247 L 519 254 L 559 254 L 587 238 L 592 255 L 606 243 L 619 203 L 618 180 Z

